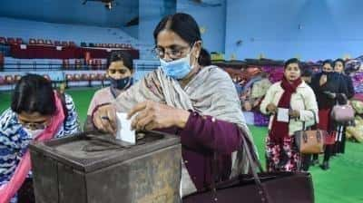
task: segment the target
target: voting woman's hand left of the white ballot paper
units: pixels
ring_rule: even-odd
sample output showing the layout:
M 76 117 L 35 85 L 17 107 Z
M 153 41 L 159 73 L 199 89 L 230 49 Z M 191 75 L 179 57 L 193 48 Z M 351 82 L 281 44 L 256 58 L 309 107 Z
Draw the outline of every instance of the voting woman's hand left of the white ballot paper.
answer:
M 113 105 L 104 105 L 93 112 L 93 124 L 99 131 L 115 134 L 117 131 L 116 110 Z

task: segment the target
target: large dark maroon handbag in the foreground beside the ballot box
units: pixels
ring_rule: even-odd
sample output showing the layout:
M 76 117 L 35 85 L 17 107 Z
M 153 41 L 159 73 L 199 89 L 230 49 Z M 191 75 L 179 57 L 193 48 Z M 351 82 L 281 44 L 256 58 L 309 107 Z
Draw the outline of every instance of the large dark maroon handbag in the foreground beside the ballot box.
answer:
M 183 203 L 313 203 L 314 190 L 309 173 L 264 172 L 251 143 L 242 136 L 243 148 L 250 161 L 251 174 L 212 183 L 211 189 L 200 191 L 182 199 Z M 253 154 L 253 155 L 252 155 Z M 252 158 L 253 156 L 253 158 Z M 214 168 L 214 166 L 212 167 Z M 213 177 L 216 168 L 211 169 Z M 258 173 L 258 169 L 260 172 Z

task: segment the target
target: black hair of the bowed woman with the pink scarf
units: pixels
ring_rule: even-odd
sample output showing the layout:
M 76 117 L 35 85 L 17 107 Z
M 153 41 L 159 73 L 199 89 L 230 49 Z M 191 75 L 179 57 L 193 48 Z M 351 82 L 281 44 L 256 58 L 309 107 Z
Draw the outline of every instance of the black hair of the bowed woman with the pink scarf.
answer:
M 27 74 L 16 83 L 11 102 L 11 109 L 16 113 L 38 112 L 53 115 L 56 111 L 52 83 L 43 76 Z

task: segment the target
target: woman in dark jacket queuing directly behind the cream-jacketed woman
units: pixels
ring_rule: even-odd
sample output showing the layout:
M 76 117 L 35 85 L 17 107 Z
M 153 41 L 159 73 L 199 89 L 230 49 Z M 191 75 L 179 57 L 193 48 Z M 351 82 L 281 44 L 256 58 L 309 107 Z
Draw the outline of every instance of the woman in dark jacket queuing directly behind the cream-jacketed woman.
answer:
M 346 83 L 338 75 L 334 73 L 331 60 L 323 62 L 322 72 L 318 73 L 312 80 L 311 86 L 317 95 L 319 105 L 319 123 L 318 128 L 328 131 L 329 136 L 335 136 L 335 128 L 331 121 L 330 113 L 337 99 L 341 99 L 343 95 L 348 94 Z M 329 169 L 329 159 L 334 144 L 327 144 L 324 150 L 324 160 L 321 169 Z M 312 164 L 318 164 L 318 155 L 315 155 Z

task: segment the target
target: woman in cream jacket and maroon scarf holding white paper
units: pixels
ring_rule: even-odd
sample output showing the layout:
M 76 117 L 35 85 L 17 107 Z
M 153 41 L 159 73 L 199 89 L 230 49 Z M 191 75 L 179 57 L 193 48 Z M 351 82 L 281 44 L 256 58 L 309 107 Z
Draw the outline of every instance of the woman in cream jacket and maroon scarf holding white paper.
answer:
M 309 85 L 301 79 L 298 59 L 289 59 L 284 66 L 281 82 L 276 82 L 266 93 L 260 111 L 270 114 L 269 135 L 266 139 L 268 171 L 299 170 L 301 156 L 294 140 L 295 131 L 314 124 L 318 117 L 318 103 Z M 288 111 L 282 119 L 283 110 Z M 281 118 L 281 119 L 280 119 Z

